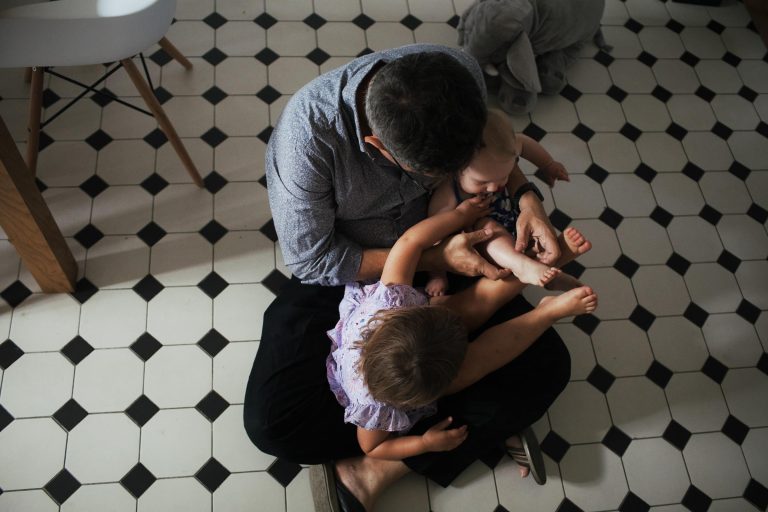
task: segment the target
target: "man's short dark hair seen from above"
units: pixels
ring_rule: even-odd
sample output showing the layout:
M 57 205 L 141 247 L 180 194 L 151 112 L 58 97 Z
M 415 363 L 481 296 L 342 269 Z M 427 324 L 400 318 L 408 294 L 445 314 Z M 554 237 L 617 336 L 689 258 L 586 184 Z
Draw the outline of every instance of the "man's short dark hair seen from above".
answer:
M 365 115 L 401 165 L 419 173 L 452 174 L 464 169 L 479 147 L 486 108 L 467 68 L 445 53 L 422 52 L 376 72 Z

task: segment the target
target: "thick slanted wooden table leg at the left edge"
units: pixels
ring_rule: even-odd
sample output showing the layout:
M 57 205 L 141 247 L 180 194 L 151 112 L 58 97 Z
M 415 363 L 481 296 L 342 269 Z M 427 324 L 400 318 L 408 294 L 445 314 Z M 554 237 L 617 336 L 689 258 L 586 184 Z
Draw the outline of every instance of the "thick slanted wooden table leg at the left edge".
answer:
M 74 291 L 75 258 L 2 119 L 0 226 L 44 292 Z

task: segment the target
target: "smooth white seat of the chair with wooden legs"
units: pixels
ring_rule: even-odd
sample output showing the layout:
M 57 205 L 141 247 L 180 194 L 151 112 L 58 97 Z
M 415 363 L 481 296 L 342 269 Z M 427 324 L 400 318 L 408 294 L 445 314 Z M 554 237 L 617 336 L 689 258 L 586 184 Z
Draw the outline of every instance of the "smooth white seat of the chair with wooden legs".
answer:
M 22 0 L 23 1 L 23 0 Z M 0 68 L 113 62 L 162 38 L 175 0 L 19 0 L 0 3 Z

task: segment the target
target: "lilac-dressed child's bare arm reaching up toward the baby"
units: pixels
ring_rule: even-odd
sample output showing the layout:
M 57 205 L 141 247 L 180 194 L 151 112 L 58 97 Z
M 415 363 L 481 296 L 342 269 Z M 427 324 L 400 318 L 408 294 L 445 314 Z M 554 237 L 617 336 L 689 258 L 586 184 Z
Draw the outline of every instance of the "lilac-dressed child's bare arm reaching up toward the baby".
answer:
M 384 284 L 412 284 L 421 253 L 462 226 L 488 214 L 490 198 L 473 197 L 456 208 L 427 217 L 395 242 L 389 251 L 381 282 Z

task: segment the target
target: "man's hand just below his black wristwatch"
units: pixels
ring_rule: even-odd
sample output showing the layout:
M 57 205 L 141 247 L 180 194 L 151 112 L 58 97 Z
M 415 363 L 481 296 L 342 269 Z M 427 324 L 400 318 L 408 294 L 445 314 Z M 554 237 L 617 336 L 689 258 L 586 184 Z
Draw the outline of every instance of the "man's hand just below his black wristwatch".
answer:
M 525 194 L 525 196 L 531 195 L 533 194 Z M 560 258 L 560 246 L 557 243 L 555 228 L 549 222 L 549 217 L 537 197 L 527 201 L 525 206 L 523 206 L 523 200 L 520 200 L 515 250 L 525 252 L 529 244 L 530 249 L 536 254 L 536 259 L 545 265 L 553 265 Z

